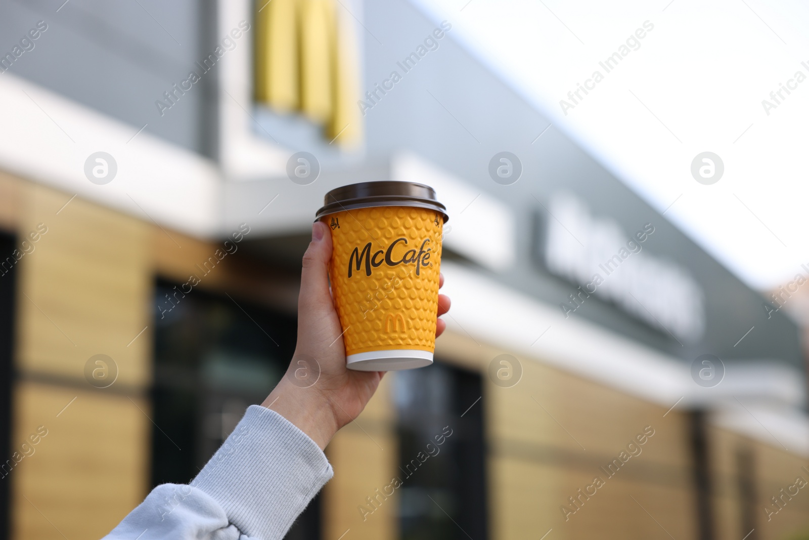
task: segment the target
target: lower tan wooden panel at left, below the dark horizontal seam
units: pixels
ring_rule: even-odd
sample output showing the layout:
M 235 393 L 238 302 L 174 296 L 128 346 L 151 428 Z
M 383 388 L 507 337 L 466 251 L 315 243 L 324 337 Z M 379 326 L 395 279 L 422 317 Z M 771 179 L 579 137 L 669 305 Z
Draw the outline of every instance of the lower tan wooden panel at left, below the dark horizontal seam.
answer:
M 37 427 L 48 434 L 6 478 L 14 493 L 11 538 L 101 538 L 140 504 L 148 412 L 142 398 L 19 382 L 13 448 L 21 449 Z

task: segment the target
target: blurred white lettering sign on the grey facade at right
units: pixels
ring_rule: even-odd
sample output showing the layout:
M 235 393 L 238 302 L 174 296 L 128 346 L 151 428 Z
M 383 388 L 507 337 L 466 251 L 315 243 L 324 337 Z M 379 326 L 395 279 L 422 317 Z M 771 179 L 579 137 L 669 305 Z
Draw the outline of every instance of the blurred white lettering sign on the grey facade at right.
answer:
M 654 223 L 638 223 L 637 230 L 625 232 L 616 221 L 593 215 L 584 202 L 565 192 L 553 193 L 548 210 L 540 234 L 544 265 L 579 286 L 560 304 L 566 317 L 595 295 L 678 341 L 702 337 L 702 288 L 682 266 L 646 251 Z

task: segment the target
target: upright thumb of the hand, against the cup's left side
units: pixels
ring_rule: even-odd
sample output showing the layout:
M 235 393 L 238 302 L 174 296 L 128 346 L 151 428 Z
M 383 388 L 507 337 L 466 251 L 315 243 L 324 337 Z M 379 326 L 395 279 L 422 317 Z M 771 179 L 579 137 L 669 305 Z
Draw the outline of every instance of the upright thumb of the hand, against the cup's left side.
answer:
M 332 258 L 332 235 L 325 223 L 316 221 L 311 226 L 311 242 L 303 254 L 299 311 L 308 313 L 325 306 L 333 308 L 328 293 L 328 261 Z

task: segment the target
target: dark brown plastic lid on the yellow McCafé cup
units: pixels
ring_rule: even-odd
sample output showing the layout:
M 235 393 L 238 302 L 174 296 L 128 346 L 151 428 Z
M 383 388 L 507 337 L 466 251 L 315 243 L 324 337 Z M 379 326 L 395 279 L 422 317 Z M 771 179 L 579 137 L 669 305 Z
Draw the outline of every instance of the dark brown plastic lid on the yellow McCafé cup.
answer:
M 370 206 L 415 206 L 439 212 L 444 216 L 444 223 L 450 219 L 447 207 L 435 198 L 435 190 L 416 182 L 379 181 L 344 185 L 326 193 L 323 203 L 315 219 L 342 210 Z

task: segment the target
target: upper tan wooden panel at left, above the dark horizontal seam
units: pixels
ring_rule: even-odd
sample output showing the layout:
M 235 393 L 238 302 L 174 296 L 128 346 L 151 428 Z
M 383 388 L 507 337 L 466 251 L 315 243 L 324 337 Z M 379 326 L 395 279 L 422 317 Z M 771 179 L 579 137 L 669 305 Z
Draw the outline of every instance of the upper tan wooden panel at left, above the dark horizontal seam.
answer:
M 17 367 L 83 380 L 104 354 L 116 384 L 150 378 L 150 227 L 70 194 L 29 185 L 20 236 L 47 232 L 19 261 Z M 64 207 L 63 207 L 64 206 Z M 61 209 L 61 211 L 60 211 Z M 58 212 L 58 214 L 57 214 Z

